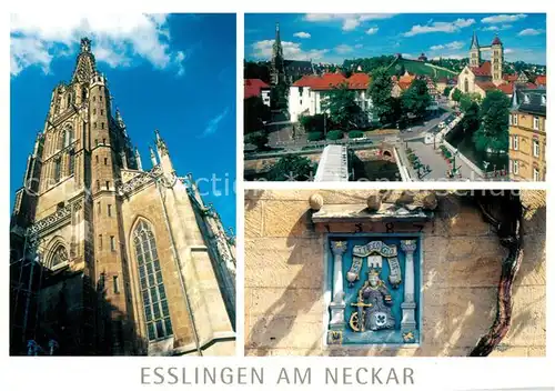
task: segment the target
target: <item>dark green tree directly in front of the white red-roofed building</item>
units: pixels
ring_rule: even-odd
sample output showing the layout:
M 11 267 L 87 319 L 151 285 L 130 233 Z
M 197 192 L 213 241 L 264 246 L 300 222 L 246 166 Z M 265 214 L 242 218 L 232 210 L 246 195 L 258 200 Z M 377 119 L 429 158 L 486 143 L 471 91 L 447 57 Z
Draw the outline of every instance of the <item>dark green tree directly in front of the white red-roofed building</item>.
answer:
M 342 129 L 359 128 L 362 109 L 355 101 L 355 93 L 347 83 L 343 83 L 327 92 L 322 101 L 322 110 Z

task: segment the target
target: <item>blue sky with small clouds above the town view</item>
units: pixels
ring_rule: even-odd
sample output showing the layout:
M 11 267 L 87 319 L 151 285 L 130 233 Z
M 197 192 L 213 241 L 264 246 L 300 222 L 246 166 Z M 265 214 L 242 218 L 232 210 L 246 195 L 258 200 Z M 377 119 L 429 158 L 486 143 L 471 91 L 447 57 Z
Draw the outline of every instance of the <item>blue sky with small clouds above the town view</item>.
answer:
M 546 61 L 545 13 L 250 13 L 244 22 L 246 59 L 271 58 L 275 22 L 286 59 L 342 63 L 394 53 L 415 58 L 421 52 L 462 58 L 475 30 L 484 46 L 497 33 L 508 61 Z

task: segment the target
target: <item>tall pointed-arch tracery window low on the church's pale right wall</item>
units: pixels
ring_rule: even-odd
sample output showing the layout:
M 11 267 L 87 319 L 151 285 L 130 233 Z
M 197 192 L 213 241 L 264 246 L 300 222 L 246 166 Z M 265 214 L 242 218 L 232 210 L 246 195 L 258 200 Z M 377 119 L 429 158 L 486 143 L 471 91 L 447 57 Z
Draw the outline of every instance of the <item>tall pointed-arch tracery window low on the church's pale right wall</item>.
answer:
M 143 220 L 133 232 L 133 247 L 149 341 L 168 338 L 173 334 L 173 329 L 158 259 L 157 242 L 150 224 Z

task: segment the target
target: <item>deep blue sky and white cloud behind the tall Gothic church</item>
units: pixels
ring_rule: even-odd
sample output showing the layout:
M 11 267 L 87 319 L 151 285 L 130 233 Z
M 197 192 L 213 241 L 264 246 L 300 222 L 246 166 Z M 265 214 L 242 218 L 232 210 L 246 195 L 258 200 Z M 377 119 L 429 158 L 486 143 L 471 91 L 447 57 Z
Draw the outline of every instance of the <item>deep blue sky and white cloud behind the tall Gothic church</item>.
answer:
M 52 89 L 71 79 L 79 40 L 88 36 L 143 167 L 151 166 L 148 148 L 159 129 L 180 176 L 221 179 L 220 196 L 212 182 L 199 186 L 234 229 L 235 14 L 101 17 L 11 18 L 10 208 Z

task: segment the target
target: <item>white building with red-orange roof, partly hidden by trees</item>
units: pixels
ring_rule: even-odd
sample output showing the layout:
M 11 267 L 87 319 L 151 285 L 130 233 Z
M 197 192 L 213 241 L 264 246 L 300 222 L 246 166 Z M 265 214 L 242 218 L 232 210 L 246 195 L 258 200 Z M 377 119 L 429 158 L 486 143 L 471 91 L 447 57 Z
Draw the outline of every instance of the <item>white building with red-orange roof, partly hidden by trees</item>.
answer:
M 372 121 L 372 100 L 367 93 L 370 76 L 353 73 L 345 78 L 341 73 L 324 73 L 323 76 L 305 76 L 295 81 L 289 89 L 289 113 L 292 122 L 297 122 L 301 116 L 323 113 L 322 102 L 331 90 L 346 84 L 356 92 L 356 102 L 367 113 L 367 121 Z

